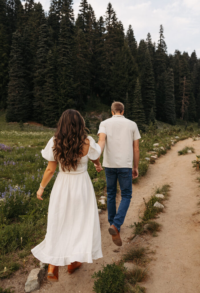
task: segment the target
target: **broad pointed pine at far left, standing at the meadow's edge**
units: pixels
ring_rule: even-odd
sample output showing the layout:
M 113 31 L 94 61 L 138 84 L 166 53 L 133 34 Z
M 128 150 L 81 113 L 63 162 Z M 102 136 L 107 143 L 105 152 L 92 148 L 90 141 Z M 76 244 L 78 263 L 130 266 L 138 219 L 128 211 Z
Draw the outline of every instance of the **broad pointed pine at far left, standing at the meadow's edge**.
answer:
M 30 115 L 29 93 L 27 91 L 24 50 L 21 34 L 13 34 L 11 55 L 9 61 L 9 83 L 6 120 L 26 121 Z

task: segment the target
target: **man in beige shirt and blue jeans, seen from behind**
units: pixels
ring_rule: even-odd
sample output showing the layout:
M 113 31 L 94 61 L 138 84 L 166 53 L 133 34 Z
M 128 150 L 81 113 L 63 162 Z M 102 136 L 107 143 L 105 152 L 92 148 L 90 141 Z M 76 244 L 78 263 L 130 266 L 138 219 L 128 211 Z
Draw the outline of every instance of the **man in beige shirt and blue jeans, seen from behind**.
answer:
M 120 227 L 124 223 L 126 212 L 132 197 L 132 178 L 138 177 L 138 163 L 140 158 L 140 133 L 135 122 L 126 119 L 124 105 L 114 102 L 111 106 L 112 118 L 100 123 L 98 144 L 101 152 L 104 147 L 103 166 L 107 182 L 107 209 L 109 233 L 117 246 L 122 246 L 119 235 Z M 134 163 L 134 164 L 133 164 Z M 101 166 L 96 166 L 101 171 Z M 121 189 L 121 202 L 116 212 L 117 179 Z

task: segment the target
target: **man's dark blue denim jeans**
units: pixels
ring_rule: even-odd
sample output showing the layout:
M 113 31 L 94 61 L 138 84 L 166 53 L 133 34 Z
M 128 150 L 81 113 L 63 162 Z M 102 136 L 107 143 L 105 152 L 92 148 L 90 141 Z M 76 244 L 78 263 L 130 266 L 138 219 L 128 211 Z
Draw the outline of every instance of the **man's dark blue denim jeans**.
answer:
M 105 175 L 107 183 L 108 222 L 120 231 L 132 197 L 132 169 L 105 167 Z M 121 202 L 116 212 L 117 179 L 121 189 Z

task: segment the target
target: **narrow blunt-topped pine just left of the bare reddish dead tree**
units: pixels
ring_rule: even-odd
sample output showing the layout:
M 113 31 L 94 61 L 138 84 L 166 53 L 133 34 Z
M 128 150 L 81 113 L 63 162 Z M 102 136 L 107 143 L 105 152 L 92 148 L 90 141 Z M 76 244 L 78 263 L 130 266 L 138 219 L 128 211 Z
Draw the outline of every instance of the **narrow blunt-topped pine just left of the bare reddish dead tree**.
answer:
M 173 69 L 168 68 L 165 74 L 165 121 L 176 124 L 175 99 L 174 99 L 174 76 Z

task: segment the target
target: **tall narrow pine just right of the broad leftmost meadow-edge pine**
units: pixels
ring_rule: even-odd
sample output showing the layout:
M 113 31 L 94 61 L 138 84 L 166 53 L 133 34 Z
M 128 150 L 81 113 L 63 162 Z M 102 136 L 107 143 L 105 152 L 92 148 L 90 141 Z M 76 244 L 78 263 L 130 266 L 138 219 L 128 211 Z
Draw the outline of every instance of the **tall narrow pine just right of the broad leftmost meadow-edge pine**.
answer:
M 49 52 L 48 27 L 43 18 L 39 30 L 38 50 L 36 53 L 36 70 L 34 74 L 34 117 L 36 121 L 43 122 L 44 86 L 46 83 L 46 64 Z

